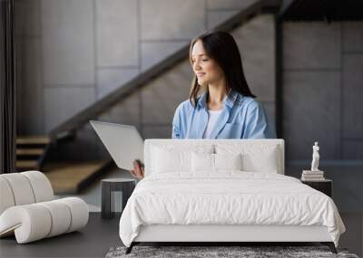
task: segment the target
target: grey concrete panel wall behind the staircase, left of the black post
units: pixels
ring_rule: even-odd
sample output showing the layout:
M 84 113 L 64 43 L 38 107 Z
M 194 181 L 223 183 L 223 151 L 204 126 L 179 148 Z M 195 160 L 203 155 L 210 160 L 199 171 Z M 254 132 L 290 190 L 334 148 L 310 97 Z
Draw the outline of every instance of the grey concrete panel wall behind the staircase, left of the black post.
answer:
M 48 132 L 253 2 L 15 1 L 19 134 Z M 274 122 L 273 16 L 260 15 L 232 34 L 250 88 Z M 188 98 L 190 83 L 185 60 L 100 119 L 133 124 L 144 138 L 170 138 L 174 110 Z M 88 125 L 57 150 L 58 158 L 108 157 Z

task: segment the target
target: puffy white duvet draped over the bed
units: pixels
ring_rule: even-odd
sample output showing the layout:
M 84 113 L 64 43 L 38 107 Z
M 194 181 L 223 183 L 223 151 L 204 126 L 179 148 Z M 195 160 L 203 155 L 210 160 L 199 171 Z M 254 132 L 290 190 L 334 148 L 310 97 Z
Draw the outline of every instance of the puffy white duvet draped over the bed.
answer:
M 294 177 L 225 171 L 142 179 L 120 220 L 130 246 L 141 225 L 325 225 L 336 246 L 345 226 L 332 199 Z

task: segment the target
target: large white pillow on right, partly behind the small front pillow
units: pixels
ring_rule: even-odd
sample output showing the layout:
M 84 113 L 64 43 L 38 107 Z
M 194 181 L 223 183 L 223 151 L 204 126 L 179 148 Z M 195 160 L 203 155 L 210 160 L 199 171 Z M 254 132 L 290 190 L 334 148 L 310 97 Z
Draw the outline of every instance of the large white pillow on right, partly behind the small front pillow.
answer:
M 243 171 L 278 173 L 280 155 L 278 146 L 216 144 L 218 154 L 241 153 Z

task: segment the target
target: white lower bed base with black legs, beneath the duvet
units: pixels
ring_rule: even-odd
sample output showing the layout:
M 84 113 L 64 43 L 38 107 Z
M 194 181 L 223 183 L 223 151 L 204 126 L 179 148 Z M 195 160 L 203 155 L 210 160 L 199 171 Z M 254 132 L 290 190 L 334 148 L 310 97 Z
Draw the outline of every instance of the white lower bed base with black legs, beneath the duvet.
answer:
M 259 243 L 287 244 L 318 242 L 337 253 L 326 226 L 300 225 L 148 225 L 142 226 L 126 253 L 142 243 L 179 245 L 240 245 Z

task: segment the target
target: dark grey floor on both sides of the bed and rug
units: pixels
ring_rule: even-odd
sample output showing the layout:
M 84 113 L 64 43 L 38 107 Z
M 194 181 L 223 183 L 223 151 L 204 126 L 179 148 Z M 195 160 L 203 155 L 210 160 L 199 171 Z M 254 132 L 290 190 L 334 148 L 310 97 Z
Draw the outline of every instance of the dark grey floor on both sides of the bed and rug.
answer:
M 340 247 L 362 256 L 363 215 L 341 213 L 347 232 L 340 238 Z M 80 232 L 64 234 L 31 244 L 16 244 L 15 237 L 0 240 L 0 257 L 104 257 L 113 246 L 122 245 L 118 234 L 119 215 L 101 219 L 91 213 L 88 225 Z

